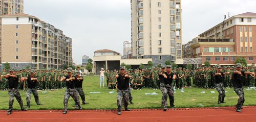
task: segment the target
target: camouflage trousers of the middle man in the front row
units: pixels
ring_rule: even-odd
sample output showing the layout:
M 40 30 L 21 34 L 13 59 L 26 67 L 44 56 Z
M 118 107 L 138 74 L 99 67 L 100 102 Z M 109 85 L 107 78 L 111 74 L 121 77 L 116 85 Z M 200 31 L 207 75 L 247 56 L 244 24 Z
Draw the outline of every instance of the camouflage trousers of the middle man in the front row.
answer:
M 121 111 L 122 109 L 122 99 L 123 99 L 123 104 L 124 108 L 126 109 L 129 104 L 129 89 L 126 90 L 117 90 L 117 109 L 118 111 Z

